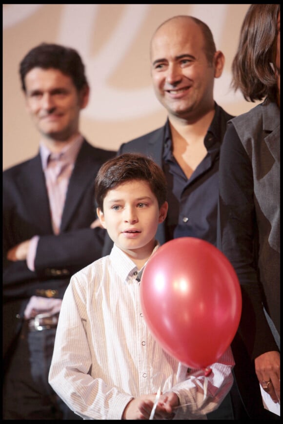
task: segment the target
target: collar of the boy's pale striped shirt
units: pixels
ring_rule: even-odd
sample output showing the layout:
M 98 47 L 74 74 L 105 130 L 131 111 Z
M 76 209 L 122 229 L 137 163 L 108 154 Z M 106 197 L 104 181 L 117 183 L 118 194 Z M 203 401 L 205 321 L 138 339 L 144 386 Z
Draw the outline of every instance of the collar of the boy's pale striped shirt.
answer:
M 156 246 L 153 249 L 151 256 L 159 249 L 160 243 L 156 241 Z M 149 258 L 149 259 L 150 259 Z M 146 266 L 147 262 L 143 265 L 141 270 L 138 270 L 136 264 L 123 252 L 121 249 L 119 249 L 115 244 L 112 248 L 112 251 L 110 253 L 110 259 L 111 262 L 113 262 L 114 268 L 116 269 L 117 273 L 119 274 L 120 278 L 125 281 L 126 284 L 130 283 L 134 276 L 138 282 L 141 281 L 142 278 L 142 272 L 144 270 L 144 267 Z

